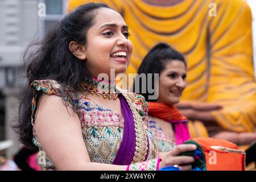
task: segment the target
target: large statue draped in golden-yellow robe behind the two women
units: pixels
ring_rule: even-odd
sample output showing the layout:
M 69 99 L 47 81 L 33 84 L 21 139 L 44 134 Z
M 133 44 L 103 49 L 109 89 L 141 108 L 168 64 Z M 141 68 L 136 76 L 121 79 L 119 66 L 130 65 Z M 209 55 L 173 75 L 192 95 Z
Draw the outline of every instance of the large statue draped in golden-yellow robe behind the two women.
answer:
M 134 44 L 129 73 L 137 72 L 144 55 L 158 42 L 167 42 L 184 54 L 187 88 L 183 104 L 177 107 L 193 121 L 189 124 L 192 137 L 210 136 L 237 144 L 256 139 L 251 11 L 246 2 L 71 0 L 69 10 L 88 2 L 107 3 L 125 19 Z

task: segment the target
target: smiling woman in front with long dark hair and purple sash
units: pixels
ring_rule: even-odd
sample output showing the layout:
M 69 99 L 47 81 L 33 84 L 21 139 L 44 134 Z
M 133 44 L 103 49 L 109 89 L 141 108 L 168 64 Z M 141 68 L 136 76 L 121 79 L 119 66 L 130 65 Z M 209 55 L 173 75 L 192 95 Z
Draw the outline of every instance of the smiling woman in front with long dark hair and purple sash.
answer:
M 176 156 L 195 150 L 192 144 L 159 156 L 144 98 L 97 79 L 110 69 L 126 71 L 133 51 L 128 37 L 120 14 L 88 3 L 26 52 L 28 84 L 17 127 L 26 146 L 39 148 L 44 170 L 156 170 L 194 161 Z

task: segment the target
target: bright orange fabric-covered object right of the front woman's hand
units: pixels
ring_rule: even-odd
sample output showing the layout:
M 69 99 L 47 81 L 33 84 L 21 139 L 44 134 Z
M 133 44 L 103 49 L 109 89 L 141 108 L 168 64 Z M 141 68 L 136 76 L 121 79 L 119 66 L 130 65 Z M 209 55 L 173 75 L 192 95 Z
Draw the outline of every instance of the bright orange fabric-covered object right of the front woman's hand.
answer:
M 205 152 L 207 160 L 207 171 L 244 171 L 245 153 L 239 150 L 236 144 L 222 139 L 208 137 L 193 138 Z M 225 147 L 239 150 L 240 154 L 234 151 L 222 151 L 212 148 L 212 146 Z

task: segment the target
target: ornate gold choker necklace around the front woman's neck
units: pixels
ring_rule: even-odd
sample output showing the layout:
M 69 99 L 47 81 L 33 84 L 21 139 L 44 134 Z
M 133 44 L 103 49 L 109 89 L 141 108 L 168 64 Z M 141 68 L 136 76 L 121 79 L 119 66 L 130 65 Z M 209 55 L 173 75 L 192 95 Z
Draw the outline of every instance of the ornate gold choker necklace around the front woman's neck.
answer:
M 85 91 L 90 94 L 96 94 L 98 97 L 103 96 L 104 99 L 117 100 L 118 93 L 115 92 L 115 84 L 111 82 L 105 82 L 97 80 L 97 78 L 92 77 L 91 79 L 85 78 L 85 80 L 80 84 Z

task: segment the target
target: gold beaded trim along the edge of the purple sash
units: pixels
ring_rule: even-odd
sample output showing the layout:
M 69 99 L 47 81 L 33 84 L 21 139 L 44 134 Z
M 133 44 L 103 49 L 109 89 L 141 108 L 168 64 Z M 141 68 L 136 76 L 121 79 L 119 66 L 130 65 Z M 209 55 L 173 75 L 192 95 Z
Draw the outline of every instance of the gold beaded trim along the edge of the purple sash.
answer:
M 137 109 L 135 108 L 134 101 L 129 96 L 129 94 L 133 93 L 125 93 L 122 89 L 116 87 L 117 91 L 126 98 L 126 101 L 133 113 L 134 117 L 134 126 L 135 126 L 135 139 L 136 139 L 136 147 L 135 154 L 132 163 L 143 162 L 147 155 L 147 133 L 146 127 L 144 125 L 143 119 L 141 115 L 139 115 Z

